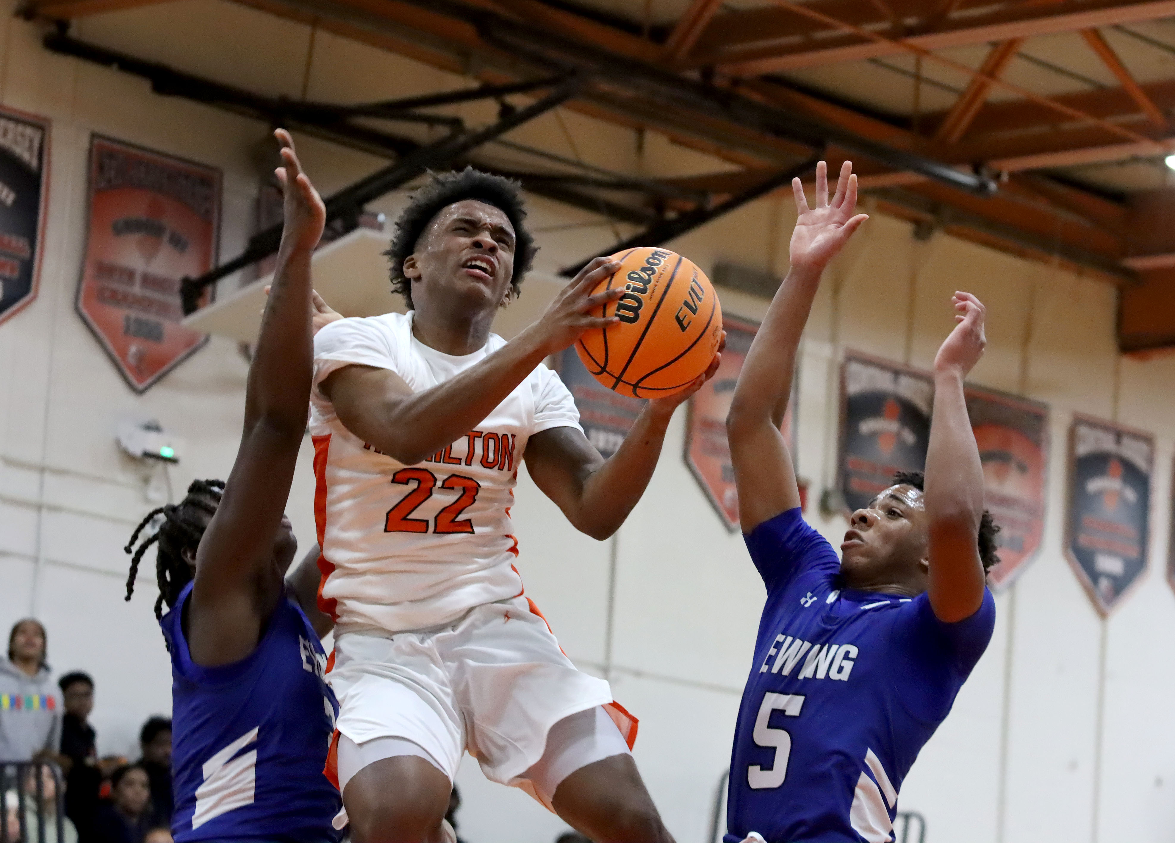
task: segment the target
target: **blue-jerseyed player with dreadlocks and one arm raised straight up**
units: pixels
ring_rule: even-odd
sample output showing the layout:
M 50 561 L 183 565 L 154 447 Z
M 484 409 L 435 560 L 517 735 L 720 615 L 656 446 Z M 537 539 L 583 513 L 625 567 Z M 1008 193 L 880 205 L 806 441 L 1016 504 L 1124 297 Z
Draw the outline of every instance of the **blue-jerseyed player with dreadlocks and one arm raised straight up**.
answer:
M 282 514 L 306 433 L 314 343 L 310 255 L 322 200 L 277 131 L 286 227 L 246 389 L 228 482 L 196 481 L 134 555 L 159 544 L 161 618 L 172 654 L 177 843 L 334 843 L 338 791 L 323 775 L 337 703 L 318 635 L 287 596 L 297 542 Z

